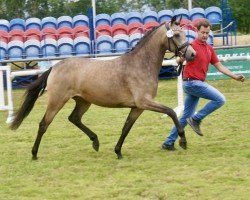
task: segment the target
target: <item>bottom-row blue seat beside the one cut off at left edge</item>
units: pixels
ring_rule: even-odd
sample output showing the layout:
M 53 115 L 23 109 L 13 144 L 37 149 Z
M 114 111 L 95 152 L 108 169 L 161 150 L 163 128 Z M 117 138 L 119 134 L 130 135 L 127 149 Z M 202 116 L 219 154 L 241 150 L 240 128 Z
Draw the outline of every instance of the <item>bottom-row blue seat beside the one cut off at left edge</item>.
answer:
M 20 40 L 13 40 L 8 43 L 9 59 L 22 59 L 24 53 L 24 44 Z

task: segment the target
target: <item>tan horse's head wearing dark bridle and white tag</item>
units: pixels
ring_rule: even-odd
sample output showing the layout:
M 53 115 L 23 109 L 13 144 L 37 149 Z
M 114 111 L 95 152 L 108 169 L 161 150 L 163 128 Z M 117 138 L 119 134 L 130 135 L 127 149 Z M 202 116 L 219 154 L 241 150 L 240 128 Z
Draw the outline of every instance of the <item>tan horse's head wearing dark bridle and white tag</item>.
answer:
M 196 52 L 186 41 L 186 34 L 180 27 L 180 21 L 176 19 L 174 16 L 171 22 L 167 22 L 166 29 L 167 29 L 167 48 L 174 52 L 176 56 L 183 56 L 187 61 L 193 60 L 195 58 Z

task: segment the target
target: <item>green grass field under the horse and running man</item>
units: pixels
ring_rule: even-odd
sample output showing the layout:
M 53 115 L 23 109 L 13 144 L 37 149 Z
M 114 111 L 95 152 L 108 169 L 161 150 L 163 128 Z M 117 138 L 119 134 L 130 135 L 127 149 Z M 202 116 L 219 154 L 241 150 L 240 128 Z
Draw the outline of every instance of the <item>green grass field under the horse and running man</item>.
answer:
M 92 106 L 84 121 L 99 136 L 100 150 L 68 122 L 70 101 L 43 137 L 31 160 L 46 94 L 13 132 L 0 112 L 0 199 L 167 199 L 248 200 L 250 197 L 250 82 L 210 81 L 226 104 L 202 123 L 204 137 L 187 127 L 188 150 L 161 150 L 173 126 L 169 118 L 145 111 L 123 145 L 114 146 L 129 109 Z M 14 91 L 15 107 L 23 90 Z M 157 101 L 176 106 L 176 81 L 160 81 Z M 203 105 L 205 101 L 201 101 Z

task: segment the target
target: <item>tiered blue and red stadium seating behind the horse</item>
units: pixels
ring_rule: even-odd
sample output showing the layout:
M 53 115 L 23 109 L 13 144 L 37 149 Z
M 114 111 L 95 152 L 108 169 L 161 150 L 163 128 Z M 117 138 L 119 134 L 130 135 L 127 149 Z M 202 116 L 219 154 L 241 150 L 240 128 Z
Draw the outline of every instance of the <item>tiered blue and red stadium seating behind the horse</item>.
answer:
M 92 49 L 89 18 L 85 15 L 59 18 L 45 17 L 0 20 L 0 58 L 36 58 L 44 56 L 81 55 L 90 53 L 125 52 L 140 38 L 160 23 L 170 21 L 173 15 L 182 15 L 181 25 L 188 40 L 194 39 L 194 24 L 207 18 L 212 24 L 221 22 L 218 7 L 98 14 L 96 16 L 96 42 Z M 213 44 L 211 32 L 208 43 Z

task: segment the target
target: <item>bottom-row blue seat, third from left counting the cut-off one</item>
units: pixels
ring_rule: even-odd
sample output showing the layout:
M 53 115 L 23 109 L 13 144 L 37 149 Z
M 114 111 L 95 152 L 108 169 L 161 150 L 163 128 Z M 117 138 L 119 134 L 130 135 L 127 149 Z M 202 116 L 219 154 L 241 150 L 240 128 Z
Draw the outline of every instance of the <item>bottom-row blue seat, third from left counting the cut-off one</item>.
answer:
M 41 43 L 39 40 L 30 39 L 24 42 L 26 58 L 38 58 L 41 55 Z

